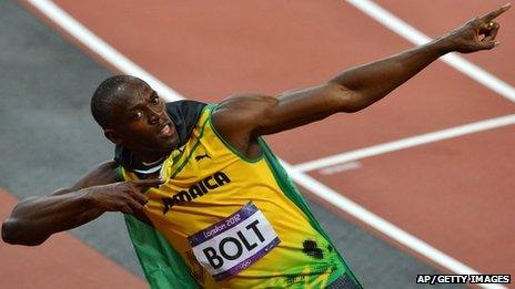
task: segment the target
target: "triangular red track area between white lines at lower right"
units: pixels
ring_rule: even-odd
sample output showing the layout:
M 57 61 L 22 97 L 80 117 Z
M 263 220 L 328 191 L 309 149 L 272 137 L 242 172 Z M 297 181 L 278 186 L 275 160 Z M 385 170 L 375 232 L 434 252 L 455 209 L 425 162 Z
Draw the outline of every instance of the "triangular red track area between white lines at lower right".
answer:
M 312 176 L 481 272 L 515 272 L 515 127 L 363 159 Z

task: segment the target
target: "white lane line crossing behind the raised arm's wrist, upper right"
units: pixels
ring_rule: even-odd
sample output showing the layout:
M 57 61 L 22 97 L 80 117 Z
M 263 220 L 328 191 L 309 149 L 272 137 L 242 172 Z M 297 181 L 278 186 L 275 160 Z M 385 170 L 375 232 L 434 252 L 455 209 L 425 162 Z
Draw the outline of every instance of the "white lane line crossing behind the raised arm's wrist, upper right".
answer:
M 431 38 L 392 14 L 374 1 L 346 0 L 346 2 L 416 45 L 422 45 L 431 41 Z M 441 60 L 486 87 L 497 92 L 512 102 L 515 102 L 515 87 L 494 76 L 484 69 L 455 53 L 447 54 L 441 58 Z

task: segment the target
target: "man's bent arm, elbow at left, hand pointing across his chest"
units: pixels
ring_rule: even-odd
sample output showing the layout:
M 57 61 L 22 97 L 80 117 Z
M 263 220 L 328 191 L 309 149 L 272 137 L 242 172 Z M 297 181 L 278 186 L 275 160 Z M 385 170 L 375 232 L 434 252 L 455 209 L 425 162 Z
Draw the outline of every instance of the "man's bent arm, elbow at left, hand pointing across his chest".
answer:
M 81 226 L 105 211 L 144 218 L 147 197 L 139 189 L 161 180 L 118 182 L 115 169 L 114 162 L 101 164 L 70 188 L 20 202 L 2 224 L 2 239 L 13 245 L 40 245 L 52 234 Z

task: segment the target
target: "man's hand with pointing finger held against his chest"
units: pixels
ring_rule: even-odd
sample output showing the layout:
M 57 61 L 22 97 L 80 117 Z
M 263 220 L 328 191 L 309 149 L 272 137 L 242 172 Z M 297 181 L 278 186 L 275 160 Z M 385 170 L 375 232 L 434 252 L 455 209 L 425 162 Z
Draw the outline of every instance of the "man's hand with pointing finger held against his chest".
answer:
M 140 179 L 92 187 L 93 193 L 91 194 L 91 198 L 104 211 L 122 211 L 139 215 L 149 202 L 148 197 L 141 192 L 162 184 L 162 179 Z

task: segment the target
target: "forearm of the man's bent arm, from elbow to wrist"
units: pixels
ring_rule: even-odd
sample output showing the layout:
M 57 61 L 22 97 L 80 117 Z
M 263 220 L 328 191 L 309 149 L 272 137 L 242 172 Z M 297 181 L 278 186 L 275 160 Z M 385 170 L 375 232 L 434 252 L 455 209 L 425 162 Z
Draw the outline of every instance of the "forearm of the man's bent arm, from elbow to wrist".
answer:
M 94 189 L 94 188 L 93 188 Z M 104 213 L 90 198 L 92 188 L 64 195 L 32 197 L 16 206 L 2 225 L 2 238 L 10 244 L 34 246 L 50 235 L 91 221 Z

